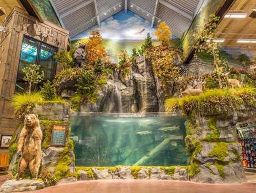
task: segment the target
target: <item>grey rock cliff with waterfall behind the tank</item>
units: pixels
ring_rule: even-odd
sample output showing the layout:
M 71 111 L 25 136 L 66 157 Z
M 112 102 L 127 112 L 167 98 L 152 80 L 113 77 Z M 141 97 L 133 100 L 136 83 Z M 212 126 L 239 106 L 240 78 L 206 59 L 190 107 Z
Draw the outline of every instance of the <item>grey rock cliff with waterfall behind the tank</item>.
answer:
M 179 65 L 179 61 L 177 61 Z M 107 79 L 104 89 L 99 93 L 95 104 L 86 103 L 80 106 L 82 112 L 104 113 L 148 113 L 164 111 L 164 95 L 160 86 L 161 80 L 152 71 L 151 61 L 138 56 L 129 75 L 123 76 L 118 71 Z M 73 82 L 74 84 L 74 82 Z M 70 99 L 74 91 L 72 82 L 67 83 L 61 96 Z M 172 90 L 172 88 L 170 88 Z

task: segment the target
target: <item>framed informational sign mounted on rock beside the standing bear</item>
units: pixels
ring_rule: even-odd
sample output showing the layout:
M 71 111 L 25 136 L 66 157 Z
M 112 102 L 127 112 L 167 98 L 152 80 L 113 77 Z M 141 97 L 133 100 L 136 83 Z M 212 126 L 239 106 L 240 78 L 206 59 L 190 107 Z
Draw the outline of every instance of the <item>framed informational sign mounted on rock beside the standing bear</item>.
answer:
M 66 145 L 67 125 L 54 124 L 52 131 L 52 146 Z

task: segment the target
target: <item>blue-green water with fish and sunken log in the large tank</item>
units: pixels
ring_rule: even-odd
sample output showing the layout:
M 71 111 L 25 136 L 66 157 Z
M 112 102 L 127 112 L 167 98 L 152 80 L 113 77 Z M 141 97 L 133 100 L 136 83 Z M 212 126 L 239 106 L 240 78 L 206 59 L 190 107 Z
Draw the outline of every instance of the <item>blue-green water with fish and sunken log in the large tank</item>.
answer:
M 77 166 L 186 165 L 181 116 L 73 115 Z

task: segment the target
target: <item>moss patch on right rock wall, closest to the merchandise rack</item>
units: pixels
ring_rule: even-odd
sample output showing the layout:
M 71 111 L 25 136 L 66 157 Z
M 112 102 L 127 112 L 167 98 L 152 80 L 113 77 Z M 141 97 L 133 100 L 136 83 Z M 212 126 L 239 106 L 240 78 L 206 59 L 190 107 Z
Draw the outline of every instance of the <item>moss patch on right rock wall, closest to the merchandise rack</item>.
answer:
M 228 143 L 220 142 L 216 143 L 214 148 L 209 152 L 209 157 L 216 157 L 218 161 L 224 162 L 225 158 L 228 156 Z

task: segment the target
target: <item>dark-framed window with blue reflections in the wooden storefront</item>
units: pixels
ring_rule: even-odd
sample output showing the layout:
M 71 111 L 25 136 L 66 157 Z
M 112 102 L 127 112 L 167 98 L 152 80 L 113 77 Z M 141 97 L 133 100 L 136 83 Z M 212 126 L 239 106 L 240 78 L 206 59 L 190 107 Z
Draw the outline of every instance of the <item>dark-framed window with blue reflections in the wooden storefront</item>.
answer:
M 24 37 L 22 51 L 20 53 L 16 92 L 23 92 L 26 90 L 27 84 L 23 80 L 24 73 L 22 72 L 22 69 L 30 63 L 40 65 L 40 71 L 44 71 L 45 73 L 44 81 L 52 80 L 57 67 L 57 61 L 54 58 L 54 53 L 57 51 L 58 49 L 55 47 L 44 44 L 33 38 Z

